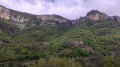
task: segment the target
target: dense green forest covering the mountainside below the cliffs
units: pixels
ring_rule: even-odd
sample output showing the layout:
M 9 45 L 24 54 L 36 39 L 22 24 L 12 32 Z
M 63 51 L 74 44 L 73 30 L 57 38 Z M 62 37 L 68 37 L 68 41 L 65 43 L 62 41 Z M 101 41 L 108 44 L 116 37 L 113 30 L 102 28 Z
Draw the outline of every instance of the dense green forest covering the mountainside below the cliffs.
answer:
M 6 26 L 7 22 L 10 21 L 0 20 L 3 26 L 0 28 L 0 66 L 120 66 L 120 28 L 117 22 L 87 20 L 85 25 L 81 25 L 83 22 L 71 27 L 38 25 L 23 31 Z

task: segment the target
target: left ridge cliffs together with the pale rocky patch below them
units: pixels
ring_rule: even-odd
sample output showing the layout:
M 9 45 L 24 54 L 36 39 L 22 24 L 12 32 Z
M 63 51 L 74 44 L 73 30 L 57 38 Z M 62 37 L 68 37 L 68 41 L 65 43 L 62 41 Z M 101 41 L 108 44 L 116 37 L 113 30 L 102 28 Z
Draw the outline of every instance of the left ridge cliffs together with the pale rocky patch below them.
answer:
M 0 18 L 18 22 L 16 26 L 18 28 L 24 28 L 24 27 L 26 28 L 27 26 L 35 27 L 39 24 L 45 23 L 46 21 L 54 21 L 58 23 L 67 23 L 67 24 L 71 23 L 70 20 L 58 15 L 32 15 L 24 12 L 11 10 L 3 6 L 0 6 Z M 55 24 L 55 23 L 51 23 L 51 24 Z

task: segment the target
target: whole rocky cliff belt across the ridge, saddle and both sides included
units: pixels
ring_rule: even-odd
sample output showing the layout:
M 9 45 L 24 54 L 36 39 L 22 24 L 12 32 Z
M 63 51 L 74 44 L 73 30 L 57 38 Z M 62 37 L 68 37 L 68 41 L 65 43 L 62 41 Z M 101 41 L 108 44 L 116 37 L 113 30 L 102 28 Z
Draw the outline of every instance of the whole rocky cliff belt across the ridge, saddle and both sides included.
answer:
M 46 24 L 49 25 L 62 24 L 67 26 L 70 25 L 74 26 L 79 22 L 88 19 L 92 21 L 109 20 L 109 21 L 120 22 L 120 17 L 118 16 L 109 17 L 105 13 L 102 13 L 98 10 L 92 10 L 88 12 L 85 17 L 81 17 L 77 20 L 72 21 L 63 18 L 59 15 L 33 15 L 33 14 L 11 10 L 3 6 L 0 6 L 0 18 L 17 22 L 17 23 L 13 23 L 13 25 L 16 25 L 18 28 L 26 28 L 26 27 L 29 28 L 37 25 L 46 25 Z M 82 24 L 85 24 L 85 22 Z

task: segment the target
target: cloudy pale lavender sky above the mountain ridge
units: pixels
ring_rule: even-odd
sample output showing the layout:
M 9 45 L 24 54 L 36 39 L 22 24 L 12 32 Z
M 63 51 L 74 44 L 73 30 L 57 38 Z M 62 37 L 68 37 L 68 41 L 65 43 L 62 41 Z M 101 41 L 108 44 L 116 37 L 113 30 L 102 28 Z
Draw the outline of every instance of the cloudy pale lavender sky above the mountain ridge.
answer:
M 37 15 L 57 14 L 68 19 L 85 16 L 93 9 L 120 16 L 120 0 L 0 0 L 0 5 Z

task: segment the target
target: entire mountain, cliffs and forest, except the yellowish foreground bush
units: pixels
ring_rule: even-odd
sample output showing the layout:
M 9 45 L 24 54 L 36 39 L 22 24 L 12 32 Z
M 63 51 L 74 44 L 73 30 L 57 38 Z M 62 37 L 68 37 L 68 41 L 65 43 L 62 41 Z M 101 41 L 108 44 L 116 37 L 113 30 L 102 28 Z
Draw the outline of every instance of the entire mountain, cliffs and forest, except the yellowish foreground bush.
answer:
M 119 17 L 97 10 L 71 21 L 0 6 L 0 66 L 30 67 L 55 56 L 74 57 L 82 67 L 119 67 L 119 34 Z

